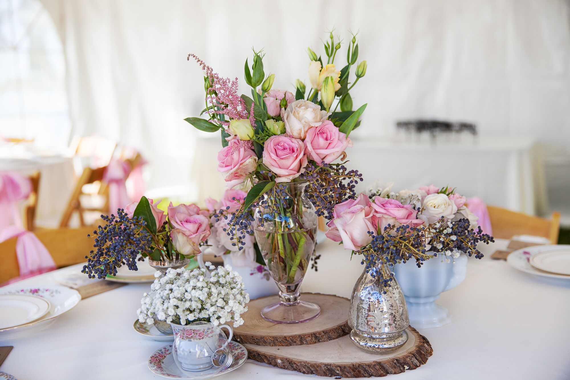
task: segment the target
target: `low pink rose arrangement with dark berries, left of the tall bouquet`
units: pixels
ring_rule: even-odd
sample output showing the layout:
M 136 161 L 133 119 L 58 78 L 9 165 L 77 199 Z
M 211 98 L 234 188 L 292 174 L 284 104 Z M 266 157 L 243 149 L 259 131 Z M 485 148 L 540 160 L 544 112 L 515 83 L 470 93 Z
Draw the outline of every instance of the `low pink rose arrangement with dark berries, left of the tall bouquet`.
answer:
M 124 264 L 137 270 L 140 257 L 165 261 L 200 254 L 200 246 L 211 233 L 209 211 L 195 204 L 170 203 L 165 214 L 158 203 L 143 196 L 139 202 L 118 209 L 117 216 L 101 215 L 107 224 L 93 231 L 95 249 L 86 256 L 82 273 L 103 278 L 117 274 L 117 268 Z

